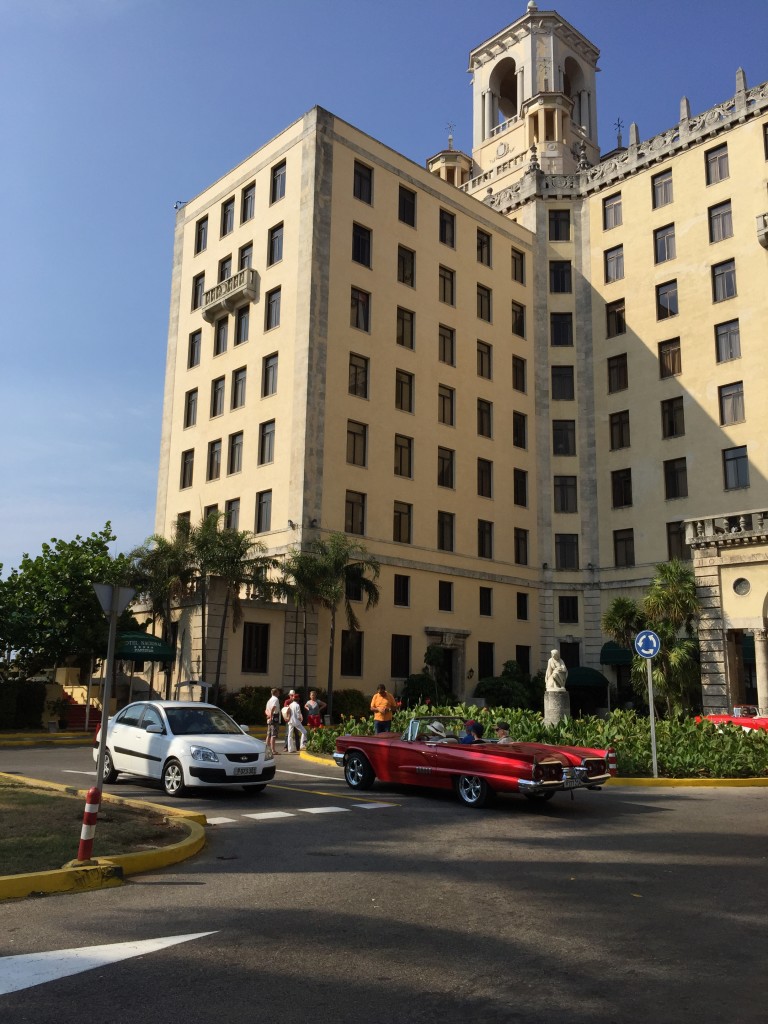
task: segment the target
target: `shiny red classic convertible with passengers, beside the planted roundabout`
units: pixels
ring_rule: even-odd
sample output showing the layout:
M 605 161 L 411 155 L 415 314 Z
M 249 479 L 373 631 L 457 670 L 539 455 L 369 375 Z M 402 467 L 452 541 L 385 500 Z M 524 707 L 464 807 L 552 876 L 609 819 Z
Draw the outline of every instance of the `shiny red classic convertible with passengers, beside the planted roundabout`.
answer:
M 352 790 L 369 790 L 377 778 L 453 788 L 469 807 L 497 793 L 549 800 L 561 790 L 598 790 L 616 774 L 612 750 L 468 739 L 462 719 L 414 718 L 402 735 L 339 736 L 334 761 Z

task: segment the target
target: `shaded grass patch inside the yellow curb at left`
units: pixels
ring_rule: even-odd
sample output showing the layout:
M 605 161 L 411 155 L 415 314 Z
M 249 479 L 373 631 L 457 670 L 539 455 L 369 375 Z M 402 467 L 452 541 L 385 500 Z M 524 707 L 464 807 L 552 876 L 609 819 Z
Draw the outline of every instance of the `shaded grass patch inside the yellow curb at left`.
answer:
M 85 799 L 0 780 L 0 874 L 49 871 L 78 855 Z M 103 815 L 103 816 L 101 816 Z M 93 856 L 170 846 L 186 836 L 178 823 L 164 821 L 162 812 L 102 803 L 93 841 Z

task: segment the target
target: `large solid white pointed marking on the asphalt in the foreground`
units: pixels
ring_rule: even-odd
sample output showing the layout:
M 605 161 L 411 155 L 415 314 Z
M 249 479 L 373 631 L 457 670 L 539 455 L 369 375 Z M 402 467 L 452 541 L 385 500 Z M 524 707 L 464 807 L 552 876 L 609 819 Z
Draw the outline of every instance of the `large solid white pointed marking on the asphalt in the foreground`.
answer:
M 202 939 L 216 932 L 194 932 L 189 935 L 171 935 L 163 939 L 143 939 L 138 942 L 111 942 L 103 946 L 80 946 L 75 949 L 52 949 L 43 953 L 22 953 L 0 958 L 0 995 L 33 988 L 58 978 L 69 978 L 93 968 L 118 964 L 132 956 L 157 952 L 168 946 Z

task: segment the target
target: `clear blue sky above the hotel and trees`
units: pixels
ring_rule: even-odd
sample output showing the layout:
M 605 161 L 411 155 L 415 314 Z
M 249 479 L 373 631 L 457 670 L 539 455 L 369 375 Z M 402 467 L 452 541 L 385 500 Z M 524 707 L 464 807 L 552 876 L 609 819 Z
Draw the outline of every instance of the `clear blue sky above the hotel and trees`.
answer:
M 540 8 L 548 5 L 540 3 Z M 171 251 L 188 200 L 315 103 L 419 163 L 471 150 L 469 50 L 525 0 L 0 0 L 0 563 L 154 529 Z M 768 79 L 766 0 L 560 0 L 600 144 Z M 628 127 L 625 129 L 627 139 Z

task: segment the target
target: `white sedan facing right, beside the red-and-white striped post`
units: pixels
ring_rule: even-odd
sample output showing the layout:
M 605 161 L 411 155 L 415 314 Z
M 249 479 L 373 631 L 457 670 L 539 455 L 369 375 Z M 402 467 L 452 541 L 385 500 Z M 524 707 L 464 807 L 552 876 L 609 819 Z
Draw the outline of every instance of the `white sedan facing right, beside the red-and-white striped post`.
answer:
M 261 739 L 208 703 L 141 700 L 106 726 L 103 782 L 121 772 L 162 782 L 169 797 L 186 786 L 242 785 L 260 793 L 274 777 L 274 758 Z M 96 736 L 93 760 L 98 761 Z

